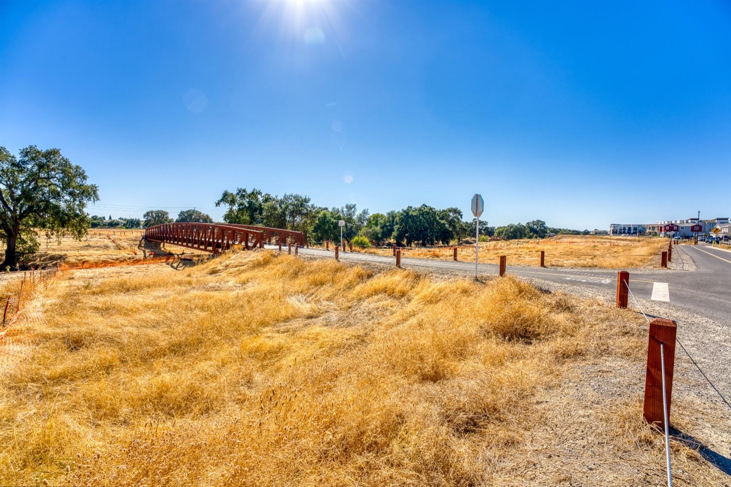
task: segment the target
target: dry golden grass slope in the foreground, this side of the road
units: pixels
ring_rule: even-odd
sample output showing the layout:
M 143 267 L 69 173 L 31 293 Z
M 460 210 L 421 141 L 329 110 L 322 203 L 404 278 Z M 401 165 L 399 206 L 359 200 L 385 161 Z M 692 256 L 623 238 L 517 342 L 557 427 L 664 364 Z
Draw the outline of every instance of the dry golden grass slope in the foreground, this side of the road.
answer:
M 510 277 L 260 250 L 67 271 L 0 344 L 0 483 L 660 485 L 646 333 Z

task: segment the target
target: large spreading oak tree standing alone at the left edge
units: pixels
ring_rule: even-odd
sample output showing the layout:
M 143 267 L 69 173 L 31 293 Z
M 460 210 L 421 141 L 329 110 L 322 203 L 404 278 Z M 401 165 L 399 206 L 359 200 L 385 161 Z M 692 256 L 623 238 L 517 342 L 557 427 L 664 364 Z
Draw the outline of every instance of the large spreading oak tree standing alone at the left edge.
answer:
M 0 147 L 0 239 L 6 243 L 0 267 L 18 267 L 18 243 L 23 232 L 41 229 L 49 236 L 70 233 L 81 239 L 89 226 L 84 211 L 96 202 L 96 185 L 86 172 L 58 149 L 29 145 L 15 158 Z

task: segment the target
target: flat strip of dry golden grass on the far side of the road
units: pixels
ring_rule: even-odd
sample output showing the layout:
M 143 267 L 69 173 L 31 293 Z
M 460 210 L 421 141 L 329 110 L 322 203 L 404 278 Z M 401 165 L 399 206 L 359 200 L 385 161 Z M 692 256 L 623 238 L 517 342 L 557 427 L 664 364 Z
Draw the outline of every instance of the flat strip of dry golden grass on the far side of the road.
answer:
M 550 239 L 480 242 L 479 258 L 480 262 L 497 264 L 500 256 L 507 256 L 509 265 L 538 266 L 540 251 L 545 250 L 545 265 L 549 267 L 659 267 L 660 252 L 667 250 L 667 242 L 650 237 L 559 235 Z M 390 249 L 363 251 L 391 255 Z M 452 260 L 452 248 L 406 249 L 401 250 L 401 256 Z M 474 262 L 474 245 L 460 247 L 457 259 Z

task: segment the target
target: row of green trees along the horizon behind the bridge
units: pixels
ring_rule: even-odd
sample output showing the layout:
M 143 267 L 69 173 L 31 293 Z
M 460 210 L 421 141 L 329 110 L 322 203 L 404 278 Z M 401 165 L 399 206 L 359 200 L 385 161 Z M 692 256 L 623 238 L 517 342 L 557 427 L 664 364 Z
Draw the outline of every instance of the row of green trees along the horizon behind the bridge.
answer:
M 392 242 L 406 246 L 449 245 L 466 239 L 474 242 L 475 219 L 464 221 L 461 210 L 455 207 L 440 210 L 422 204 L 419 207 L 409 206 L 404 210 L 371 215 L 367 209 L 359 211 L 355 204 L 319 207 L 313 204 L 308 196 L 285 193 L 279 197 L 256 188 L 224 191 L 216 202 L 216 207 L 226 209 L 225 223 L 301 231 L 311 242 L 338 241 L 340 220 L 345 221 L 342 229 L 343 238 L 356 245 L 385 245 Z M 98 218 L 91 217 L 92 226 Z M 139 225 L 139 221 L 132 220 L 132 224 Z M 124 218 L 116 221 L 129 222 Z M 181 211 L 175 221 L 211 223 L 213 220 L 209 215 L 193 209 Z M 110 217 L 109 220 L 104 220 L 103 224 L 113 226 L 110 222 L 115 221 Z M 141 223 L 146 228 L 171 222 L 173 218 L 170 218 L 167 211 L 150 210 L 145 212 Z M 490 226 L 486 221 L 480 221 L 481 241 L 490 237 L 507 240 L 545 238 L 552 234 L 588 234 L 588 230 L 556 229 L 546 226 L 542 220 L 510 223 L 497 228 Z

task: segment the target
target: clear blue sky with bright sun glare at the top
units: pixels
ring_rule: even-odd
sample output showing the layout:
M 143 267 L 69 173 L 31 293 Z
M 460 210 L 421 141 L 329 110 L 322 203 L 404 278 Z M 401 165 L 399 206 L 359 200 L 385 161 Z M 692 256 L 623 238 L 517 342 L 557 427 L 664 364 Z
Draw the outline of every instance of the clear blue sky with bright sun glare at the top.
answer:
M 729 216 L 731 4 L 0 1 L 0 145 L 91 212 L 224 189 L 550 226 Z M 696 182 L 697 181 L 697 182 Z

